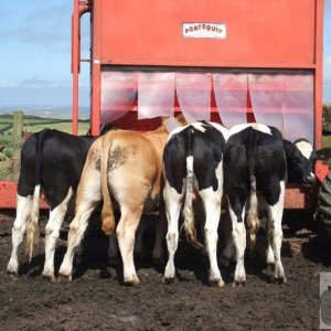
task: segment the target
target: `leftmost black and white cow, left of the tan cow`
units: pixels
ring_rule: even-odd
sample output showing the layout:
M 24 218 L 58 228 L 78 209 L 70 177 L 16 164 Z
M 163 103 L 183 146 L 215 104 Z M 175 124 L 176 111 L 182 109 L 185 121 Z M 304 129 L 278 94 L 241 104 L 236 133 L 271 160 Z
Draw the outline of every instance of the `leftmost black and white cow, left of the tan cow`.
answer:
M 43 129 L 33 134 L 21 151 L 17 217 L 12 227 L 12 253 L 7 271 L 18 276 L 18 249 L 26 231 L 26 248 L 32 257 L 39 229 L 39 197 L 43 193 L 50 205 L 45 228 L 43 276 L 54 280 L 54 250 L 71 197 L 76 192 L 90 145 L 96 138 L 72 136 Z

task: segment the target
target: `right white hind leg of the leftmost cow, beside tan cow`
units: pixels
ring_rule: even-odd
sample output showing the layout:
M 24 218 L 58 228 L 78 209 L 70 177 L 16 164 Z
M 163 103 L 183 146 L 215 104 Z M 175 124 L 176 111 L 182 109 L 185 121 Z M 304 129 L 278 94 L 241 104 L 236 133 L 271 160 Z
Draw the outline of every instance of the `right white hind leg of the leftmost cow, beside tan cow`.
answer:
M 45 227 L 45 264 L 43 276 L 49 278 L 51 281 L 55 280 L 54 276 L 54 253 L 56 241 L 60 236 L 60 228 L 65 217 L 67 205 L 73 195 L 72 188 L 61 204 L 50 212 L 50 220 Z

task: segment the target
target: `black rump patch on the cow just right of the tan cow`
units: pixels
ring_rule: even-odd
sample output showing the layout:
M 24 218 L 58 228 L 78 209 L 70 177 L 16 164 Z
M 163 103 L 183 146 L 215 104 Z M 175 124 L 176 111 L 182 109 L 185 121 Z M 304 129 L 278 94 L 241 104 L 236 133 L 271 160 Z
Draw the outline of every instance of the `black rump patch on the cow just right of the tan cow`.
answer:
M 182 131 L 173 135 L 163 152 L 166 178 L 170 185 L 182 194 L 183 180 L 186 177 L 186 158 L 192 156 L 193 172 L 196 178 L 199 190 L 218 188 L 215 175 L 216 168 L 222 161 L 222 151 L 225 139 L 221 131 L 209 122 L 202 121 L 205 131 L 193 126 L 188 126 Z

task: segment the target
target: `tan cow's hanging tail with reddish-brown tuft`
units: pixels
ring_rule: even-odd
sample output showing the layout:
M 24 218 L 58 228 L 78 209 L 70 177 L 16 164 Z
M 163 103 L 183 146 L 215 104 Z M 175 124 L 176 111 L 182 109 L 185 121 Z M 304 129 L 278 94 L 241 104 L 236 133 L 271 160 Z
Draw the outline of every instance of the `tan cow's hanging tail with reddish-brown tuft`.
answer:
M 107 146 L 105 137 L 102 138 L 102 156 L 100 156 L 100 178 L 102 178 L 102 194 L 104 199 L 104 205 L 102 211 L 102 228 L 106 235 L 110 235 L 115 229 L 115 216 L 114 207 L 111 203 L 110 192 L 108 190 L 108 158 L 111 149 Z

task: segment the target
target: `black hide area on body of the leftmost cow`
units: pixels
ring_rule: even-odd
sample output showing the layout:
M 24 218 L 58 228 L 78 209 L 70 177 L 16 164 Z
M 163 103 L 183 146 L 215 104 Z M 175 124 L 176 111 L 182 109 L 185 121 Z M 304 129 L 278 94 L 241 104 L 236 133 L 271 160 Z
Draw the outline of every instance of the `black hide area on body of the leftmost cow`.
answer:
M 77 137 L 58 130 L 44 129 L 33 134 L 21 151 L 21 171 L 18 194 L 33 194 L 41 184 L 51 210 L 77 189 L 87 152 L 94 137 Z

